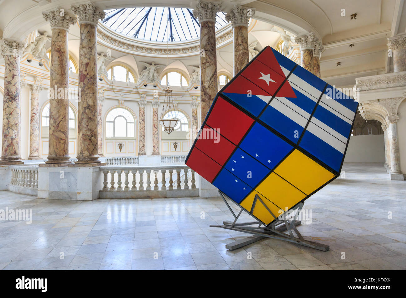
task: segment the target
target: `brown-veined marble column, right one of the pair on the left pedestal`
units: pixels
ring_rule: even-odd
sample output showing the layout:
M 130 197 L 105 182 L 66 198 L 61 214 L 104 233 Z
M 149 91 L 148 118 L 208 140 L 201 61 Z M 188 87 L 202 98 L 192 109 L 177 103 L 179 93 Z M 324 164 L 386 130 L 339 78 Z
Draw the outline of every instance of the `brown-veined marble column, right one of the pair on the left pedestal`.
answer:
M 78 103 L 78 161 L 75 164 L 98 164 L 97 127 L 97 23 L 105 13 L 92 2 L 71 5 L 80 25 Z

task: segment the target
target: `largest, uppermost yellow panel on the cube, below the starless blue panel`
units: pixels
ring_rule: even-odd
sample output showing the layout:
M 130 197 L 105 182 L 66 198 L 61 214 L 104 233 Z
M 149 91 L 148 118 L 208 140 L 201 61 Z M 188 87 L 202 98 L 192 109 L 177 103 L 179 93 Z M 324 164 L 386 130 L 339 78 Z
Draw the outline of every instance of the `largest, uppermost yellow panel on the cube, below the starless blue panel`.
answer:
M 309 195 L 335 175 L 295 149 L 274 170 L 298 189 Z

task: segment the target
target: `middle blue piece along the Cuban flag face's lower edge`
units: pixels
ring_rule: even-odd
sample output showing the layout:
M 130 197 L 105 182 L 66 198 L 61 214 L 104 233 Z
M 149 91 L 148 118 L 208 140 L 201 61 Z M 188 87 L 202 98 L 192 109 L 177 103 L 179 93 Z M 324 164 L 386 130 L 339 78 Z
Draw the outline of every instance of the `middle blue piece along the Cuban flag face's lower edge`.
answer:
M 298 114 L 298 116 L 300 115 Z M 299 137 L 304 129 L 302 126 L 286 117 L 284 114 L 282 114 L 277 109 L 274 109 L 270 105 L 266 107 L 266 110 L 263 112 L 261 117 L 259 117 L 259 119 L 287 137 L 295 144 L 298 142 Z

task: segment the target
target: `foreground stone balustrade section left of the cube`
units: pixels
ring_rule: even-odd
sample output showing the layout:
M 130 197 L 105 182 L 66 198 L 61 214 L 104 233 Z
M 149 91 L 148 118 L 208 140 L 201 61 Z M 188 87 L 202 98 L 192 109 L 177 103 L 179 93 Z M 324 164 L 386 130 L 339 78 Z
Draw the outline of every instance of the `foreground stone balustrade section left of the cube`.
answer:
M 198 196 L 194 171 L 186 165 L 101 167 L 100 198 Z

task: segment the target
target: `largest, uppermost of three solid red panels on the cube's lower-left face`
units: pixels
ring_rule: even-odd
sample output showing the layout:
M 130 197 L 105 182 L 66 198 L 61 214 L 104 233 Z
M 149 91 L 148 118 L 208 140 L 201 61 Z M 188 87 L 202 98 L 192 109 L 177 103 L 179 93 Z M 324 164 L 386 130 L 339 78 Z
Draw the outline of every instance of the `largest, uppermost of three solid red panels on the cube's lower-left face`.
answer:
M 237 145 L 253 122 L 247 114 L 218 96 L 206 123 Z

